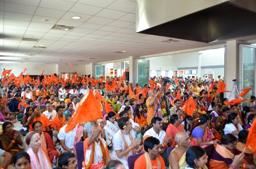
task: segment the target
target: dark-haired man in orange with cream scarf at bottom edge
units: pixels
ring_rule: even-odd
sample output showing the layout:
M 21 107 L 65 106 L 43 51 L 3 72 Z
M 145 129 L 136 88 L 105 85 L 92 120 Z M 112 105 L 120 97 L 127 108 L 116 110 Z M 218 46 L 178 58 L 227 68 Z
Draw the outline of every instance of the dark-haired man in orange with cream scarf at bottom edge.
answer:
M 164 159 L 160 156 L 162 149 L 157 138 L 150 136 L 143 143 L 145 153 L 134 163 L 136 169 L 165 169 Z

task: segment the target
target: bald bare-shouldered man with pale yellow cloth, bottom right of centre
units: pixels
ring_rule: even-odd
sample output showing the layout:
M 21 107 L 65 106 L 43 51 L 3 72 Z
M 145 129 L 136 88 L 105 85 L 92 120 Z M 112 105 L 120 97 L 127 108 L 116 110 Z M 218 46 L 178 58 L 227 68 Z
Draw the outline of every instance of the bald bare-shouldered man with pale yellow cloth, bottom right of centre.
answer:
M 169 156 L 170 169 L 184 169 L 186 163 L 186 151 L 190 147 L 190 137 L 186 132 L 178 132 L 175 135 L 177 146 L 172 150 Z

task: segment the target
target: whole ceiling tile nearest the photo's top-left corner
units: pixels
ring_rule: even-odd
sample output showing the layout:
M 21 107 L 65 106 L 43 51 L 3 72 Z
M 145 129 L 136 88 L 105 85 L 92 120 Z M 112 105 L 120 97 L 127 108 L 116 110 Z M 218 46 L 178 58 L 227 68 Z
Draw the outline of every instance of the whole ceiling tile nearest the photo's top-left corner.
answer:
M 4 10 L 9 12 L 17 12 L 17 13 L 26 13 L 33 14 L 36 10 L 35 6 L 21 5 L 21 4 L 13 4 L 9 2 L 4 3 Z

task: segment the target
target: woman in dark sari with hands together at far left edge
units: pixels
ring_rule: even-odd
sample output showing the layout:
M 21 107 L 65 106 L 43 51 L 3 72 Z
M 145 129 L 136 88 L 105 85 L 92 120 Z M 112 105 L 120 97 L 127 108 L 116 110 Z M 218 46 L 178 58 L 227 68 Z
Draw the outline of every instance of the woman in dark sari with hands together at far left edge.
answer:
M 19 147 L 22 146 L 23 142 L 21 140 L 21 133 L 17 130 L 13 130 L 14 125 L 10 121 L 4 122 L 2 128 L 4 132 L 0 136 L 1 147 L 4 151 L 12 154 L 12 157 L 22 151 Z M 13 160 L 13 159 L 12 159 Z M 12 162 L 11 162 L 12 163 Z

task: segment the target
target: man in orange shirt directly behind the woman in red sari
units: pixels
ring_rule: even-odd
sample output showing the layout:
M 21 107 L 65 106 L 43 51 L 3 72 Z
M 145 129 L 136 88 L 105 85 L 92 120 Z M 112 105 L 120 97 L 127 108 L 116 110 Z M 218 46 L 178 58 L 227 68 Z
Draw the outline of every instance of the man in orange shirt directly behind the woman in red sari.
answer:
M 50 120 L 44 116 L 41 116 L 41 111 L 39 111 L 39 106 L 33 107 L 33 114 L 28 118 L 27 125 L 30 126 L 30 130 L 32 131 L 32 124 L 34 121 L 41 121 L 43 126 L 43 131 L 50 131 Z

